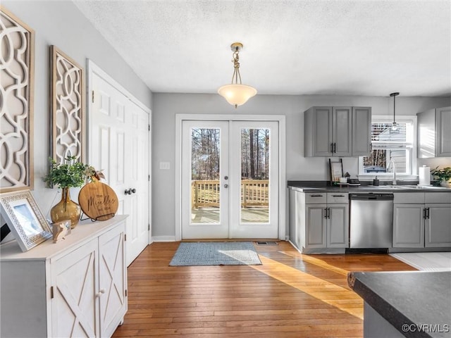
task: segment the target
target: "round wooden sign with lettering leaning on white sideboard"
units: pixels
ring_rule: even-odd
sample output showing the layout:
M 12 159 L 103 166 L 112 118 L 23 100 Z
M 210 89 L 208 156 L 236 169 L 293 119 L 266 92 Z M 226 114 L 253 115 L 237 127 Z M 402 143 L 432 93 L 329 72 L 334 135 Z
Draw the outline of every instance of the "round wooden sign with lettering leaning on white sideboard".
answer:
M 93 220 L 108 220 L 118 211 L 118 195 L 107 184 L 94 181 L 86 184 L 78 194 L 83 213 Z

